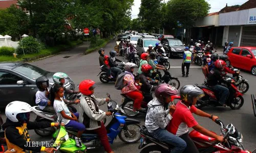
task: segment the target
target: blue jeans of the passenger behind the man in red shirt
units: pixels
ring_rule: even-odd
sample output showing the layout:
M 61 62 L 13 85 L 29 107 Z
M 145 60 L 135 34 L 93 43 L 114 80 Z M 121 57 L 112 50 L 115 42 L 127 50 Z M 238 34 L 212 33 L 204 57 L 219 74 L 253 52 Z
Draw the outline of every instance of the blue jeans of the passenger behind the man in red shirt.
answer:
M 172 133 L 169 133 L 165 129 L 161 129 L 160 127 L 154 132 L 150 133 L 150 135 L 160 141 L 173 145 L 172 153 L 180 152 L 182 153 L 186 149 L 186 142 L 181 138 L 175 136 Z

